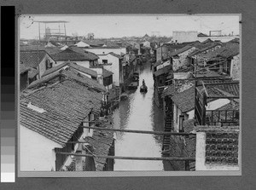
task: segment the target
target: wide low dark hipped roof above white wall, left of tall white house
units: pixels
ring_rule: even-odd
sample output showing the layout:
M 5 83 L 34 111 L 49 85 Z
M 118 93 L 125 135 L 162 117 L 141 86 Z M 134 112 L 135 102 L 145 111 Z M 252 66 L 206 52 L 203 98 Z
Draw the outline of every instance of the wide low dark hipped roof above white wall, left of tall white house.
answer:
M 97 56 L 92 53 L 79 52 L 80 50 L 67 48 L 60 53 L 52 55 L 54 60 L 97 60 Z

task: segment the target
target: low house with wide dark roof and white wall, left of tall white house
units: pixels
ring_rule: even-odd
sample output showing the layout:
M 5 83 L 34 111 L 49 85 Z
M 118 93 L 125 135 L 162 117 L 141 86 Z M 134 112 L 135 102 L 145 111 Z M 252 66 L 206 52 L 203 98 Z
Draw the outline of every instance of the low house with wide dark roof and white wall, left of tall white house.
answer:
M 95 54 L 86 52 L 78 47 L 68 47 L 67 49 L 51 56 L 56 61 L 55 66 L 58 66 L 61 63 L 67 61 L 73 61 L 76 62 L 79 66 L 89 68 L 90 66 L 96 65 L 98 60 L 98 56 Z

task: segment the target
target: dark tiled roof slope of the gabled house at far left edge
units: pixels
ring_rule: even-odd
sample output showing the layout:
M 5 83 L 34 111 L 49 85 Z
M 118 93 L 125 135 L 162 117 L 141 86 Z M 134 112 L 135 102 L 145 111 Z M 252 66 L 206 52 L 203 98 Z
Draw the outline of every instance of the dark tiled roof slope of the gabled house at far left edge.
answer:
M 39 63 L 44 59 L 45 51 L 21 51 L 20 61 L 27 67 L 37 68 Z

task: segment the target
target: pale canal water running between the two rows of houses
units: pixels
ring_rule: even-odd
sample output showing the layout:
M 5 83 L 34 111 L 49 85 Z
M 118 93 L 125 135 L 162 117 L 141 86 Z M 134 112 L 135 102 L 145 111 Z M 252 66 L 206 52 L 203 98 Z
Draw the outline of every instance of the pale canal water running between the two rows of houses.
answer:
M 139 68 L 139 87 L 145 80 L 148 93 L 139 87 L 113 112 L 113 127 L 123 130 L 163 131 L 163 111 L 154 104 L 154 79 L 150 64 Z M 161 157 L 162 135 L 116 132 L 115 156 Z M 163 161 L 115 159 L 114 170 L 164 170 Z

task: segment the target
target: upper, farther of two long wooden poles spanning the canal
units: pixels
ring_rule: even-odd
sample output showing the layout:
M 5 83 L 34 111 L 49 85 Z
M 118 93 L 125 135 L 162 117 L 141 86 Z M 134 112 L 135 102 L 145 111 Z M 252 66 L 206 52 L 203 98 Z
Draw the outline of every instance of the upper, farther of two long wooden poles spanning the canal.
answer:
M 101 127 L 87 127 L 81 126 L 82 128 L 92 129 L 92 130 L 110 130 L 110 131 L 119 131 L 127 133 L 140 133 L 140 134 L 152 134 L 152 135 L 195 135 L 193 133 L 177 133 L 177 132 L 163 132 L 163 131 L 148 131 L 148 130 L 119 130 L 119 129 L 109 129 Z

